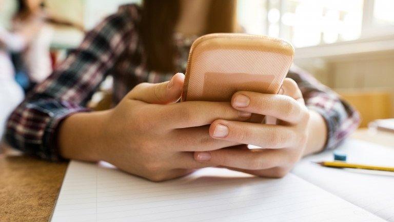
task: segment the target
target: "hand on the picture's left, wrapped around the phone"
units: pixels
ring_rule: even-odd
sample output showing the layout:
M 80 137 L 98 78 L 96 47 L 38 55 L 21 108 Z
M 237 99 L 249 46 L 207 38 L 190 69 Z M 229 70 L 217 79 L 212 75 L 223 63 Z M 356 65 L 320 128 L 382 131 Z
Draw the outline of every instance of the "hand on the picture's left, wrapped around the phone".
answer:
M 216 119 L 245 121 L 250 113 L 229 102 L 176 103 L 184 75 L 170 82 L 135 86 L 104 119 L 100 158 L 117 168 L 153 181 L 180 177 L 210 166 L 193 158 L 194 151 L 218 150 L 238 143 L 209 136 Z

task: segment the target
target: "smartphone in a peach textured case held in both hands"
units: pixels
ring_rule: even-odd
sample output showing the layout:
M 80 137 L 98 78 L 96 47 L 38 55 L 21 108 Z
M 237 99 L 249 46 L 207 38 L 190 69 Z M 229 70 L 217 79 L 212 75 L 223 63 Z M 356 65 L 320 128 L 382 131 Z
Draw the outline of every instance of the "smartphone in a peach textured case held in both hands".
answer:
M 293 46 L 278 38 L 203 35 L 191 46 L 181 101 L 230 101 L 237 91 L 277 94 L 293 56 Z

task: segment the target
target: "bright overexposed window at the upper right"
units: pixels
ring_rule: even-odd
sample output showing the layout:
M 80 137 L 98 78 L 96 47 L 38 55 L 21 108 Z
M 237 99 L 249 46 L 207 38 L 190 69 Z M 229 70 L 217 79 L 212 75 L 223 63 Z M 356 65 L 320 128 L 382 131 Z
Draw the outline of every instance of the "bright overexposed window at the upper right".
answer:
M 392 8 L 392 0 L 239 0 L 238 16 L 247 33 L 306 47 L 392 30 Z

